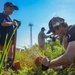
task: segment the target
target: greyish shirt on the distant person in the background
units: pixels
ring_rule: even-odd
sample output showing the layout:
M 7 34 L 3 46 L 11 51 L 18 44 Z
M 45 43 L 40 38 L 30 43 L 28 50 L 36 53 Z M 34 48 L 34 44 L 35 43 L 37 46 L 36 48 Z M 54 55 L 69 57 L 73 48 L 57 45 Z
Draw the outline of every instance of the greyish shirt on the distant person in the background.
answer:
M 48 38 L 50 36 L 46 36 L 45 33 L 43 31 L 40 31 L 38 34 L 38 44 L 40 46 L 45 44 L 45 38 Z

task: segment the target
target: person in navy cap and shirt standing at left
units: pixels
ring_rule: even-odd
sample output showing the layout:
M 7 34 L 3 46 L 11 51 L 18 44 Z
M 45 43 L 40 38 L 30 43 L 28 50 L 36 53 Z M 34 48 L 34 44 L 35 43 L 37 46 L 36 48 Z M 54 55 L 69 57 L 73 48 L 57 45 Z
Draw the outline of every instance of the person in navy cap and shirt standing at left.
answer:
M 6 39 L 6 35 L 8 34 L 6 45 L 8 44 L 10 37 L 14 31 L 14 25 L 21 24 L 20 21 L 12 21 L 9 17 L 14 10 L 18 10 L 18 7 L 11 2 L 6 2 L 4 4 L 4 11 L 0 13 L 0 50 L 3 49 L 4 42 Z M 13 39 L 12 39 L 13 41 Z M 10 49 L 8 52 L 8 58 L 12 60 L 12 44 L 10 45 Z

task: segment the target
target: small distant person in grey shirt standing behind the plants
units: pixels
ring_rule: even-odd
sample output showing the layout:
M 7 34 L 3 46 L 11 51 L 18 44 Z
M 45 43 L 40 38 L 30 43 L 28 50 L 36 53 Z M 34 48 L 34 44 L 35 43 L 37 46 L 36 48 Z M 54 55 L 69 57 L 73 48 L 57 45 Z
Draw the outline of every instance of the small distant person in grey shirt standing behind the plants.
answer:
M 45 31 L 45 28 L 42 27 L 41 31 L 38 34 L 38 44 L 39 44 L 40 50 L 45 50 L 45 39 L 50 37 L 45 35 L 44 31 Z

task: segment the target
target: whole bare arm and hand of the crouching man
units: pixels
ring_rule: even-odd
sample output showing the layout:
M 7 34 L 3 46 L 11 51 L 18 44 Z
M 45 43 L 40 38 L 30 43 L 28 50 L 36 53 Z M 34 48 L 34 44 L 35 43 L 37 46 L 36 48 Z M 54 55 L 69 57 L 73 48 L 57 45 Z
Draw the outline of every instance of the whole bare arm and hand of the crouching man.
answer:
M 57 66 L 70 66 L 74 62 L 75 59 L 75 41 L 69 42 L 66 52 L 57 57 L 56 59 L 51 60 L 48 63 L 47 58 L 41 58 L 41 63 L 45 66 L 49 66 L 49 68 L 55 68 Z

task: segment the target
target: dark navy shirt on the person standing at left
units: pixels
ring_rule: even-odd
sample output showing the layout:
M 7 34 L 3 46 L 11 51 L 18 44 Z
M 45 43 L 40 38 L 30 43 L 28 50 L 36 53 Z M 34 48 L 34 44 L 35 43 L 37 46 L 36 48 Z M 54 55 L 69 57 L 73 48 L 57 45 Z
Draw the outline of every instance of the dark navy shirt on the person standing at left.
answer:
M 13 26 L 2 26 L 3 22 L 12 22 L 11 18 L 4 13 L 0 13 L 0 44 L 4 45 L 6 34 L 8 34 L 8 40 L 10 39 L 13 33 Z

